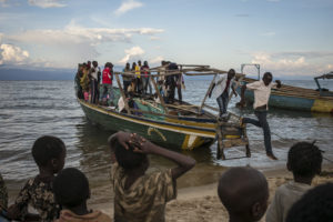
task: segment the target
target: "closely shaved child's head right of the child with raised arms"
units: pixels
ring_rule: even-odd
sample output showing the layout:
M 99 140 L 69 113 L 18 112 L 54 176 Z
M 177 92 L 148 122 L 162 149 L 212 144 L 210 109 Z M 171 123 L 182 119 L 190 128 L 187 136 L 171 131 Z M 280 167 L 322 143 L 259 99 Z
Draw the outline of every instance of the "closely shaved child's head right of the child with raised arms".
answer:
M 258 221 L 268 208 L 268 181 L 253 168 L 228 170 L 220 178 L 218 193 L 229 216 L 241 221 Z

